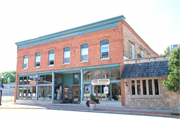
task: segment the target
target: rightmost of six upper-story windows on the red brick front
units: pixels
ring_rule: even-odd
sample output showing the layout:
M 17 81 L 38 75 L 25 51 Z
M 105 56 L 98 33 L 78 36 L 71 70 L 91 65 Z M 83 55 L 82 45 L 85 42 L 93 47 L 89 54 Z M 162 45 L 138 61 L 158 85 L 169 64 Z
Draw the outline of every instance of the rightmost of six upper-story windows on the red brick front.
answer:
M 109 40 L 101 41 L 101 59 L 109 58 Z

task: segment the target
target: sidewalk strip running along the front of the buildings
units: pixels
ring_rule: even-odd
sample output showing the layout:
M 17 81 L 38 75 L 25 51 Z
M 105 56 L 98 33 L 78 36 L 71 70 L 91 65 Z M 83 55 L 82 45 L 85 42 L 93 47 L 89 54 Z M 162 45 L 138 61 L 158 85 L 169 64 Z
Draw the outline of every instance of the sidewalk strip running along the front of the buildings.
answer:
M 0 109 L 51 109 L 51 110 L 67 110 L 81 112 L 98 112 L 98 113 L 114 113 L 114 114 L 129 114 L 129 115 L 147 115 L 180 118 L 179 111 L 176 110 L 155 110 L 155 109 L 132 109 L 132 108 L 105 108 L 97 107 L 95 110 L 90 110 L 89 107 L 80 106 L 61 106 L 61 105 L 25 105 L 2 103 Z M 171 115 L 171 113 L 175 115 Z

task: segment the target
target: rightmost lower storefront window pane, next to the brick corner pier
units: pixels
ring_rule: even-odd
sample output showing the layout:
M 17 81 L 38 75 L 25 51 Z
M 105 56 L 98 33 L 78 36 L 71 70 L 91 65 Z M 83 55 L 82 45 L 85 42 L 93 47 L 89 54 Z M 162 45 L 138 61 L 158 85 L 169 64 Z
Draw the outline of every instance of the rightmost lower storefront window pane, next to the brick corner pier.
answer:
M 112 83 L 112 100 L 121 100 L 121 83 Z

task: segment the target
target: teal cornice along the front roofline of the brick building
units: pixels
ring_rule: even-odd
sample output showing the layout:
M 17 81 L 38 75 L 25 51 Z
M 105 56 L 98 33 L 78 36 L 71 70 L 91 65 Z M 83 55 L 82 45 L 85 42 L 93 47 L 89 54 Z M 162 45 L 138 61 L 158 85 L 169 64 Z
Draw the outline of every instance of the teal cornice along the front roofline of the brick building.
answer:
M 111 24 L 111 23 L 115 23 L 115 22 L 119 22 L 119 21 L 124 21 L 124 20 L 125 20 L 125 17 L 123 15 L 121 15 L 121 16 L 109 18 L 109 19 L 106 19 L 106 20 L 94 22 L 94 23 L 91 23 L 91 24 L 79 26 L 79 27 L 76 27 L 76 28 L 71 28 L 71 29 L 68 29 L 68 30 L 64 30 L 64 31 L 44 35 L 44 36 L 41 36 L 41 37 L 38 37 L 38 38 L 16 42 L 15 44 L 17 46 L 19 46 L 19 45 L 29 44 L 29 43 L 32 43 L 32 42 L 42 41 L 42 40 L 45 40 L 45 39 L 53 39 L 55 37 L 62 36 L 62 35 L 65 35 L 64 38 L 66 38 L 66 35 L 68 36 L 68 34 L 70 34 L 70 33 L 72 34 L 72 33 L 75 33 L 75 32 L 82 31 L 82 30 L 92 29 L 92 28 L 95 28 L 95 27 L 97 28 L 97 27 L 100 27 L 100 26 L 104 26 L 104 25 L 107 25 L 107 24 Z M 96 30 L 96 31 L 100 31 L 100 30 L 101 29 Z M 85 33 L 85 34 L 87 34 L 87 33 Z M 78 36 L 78 34 L 77 35 L 72 35 L 72 36 L 69 36 L 69 37 L 74 37 L 74 36 Z M 59 39 L 49 40 L 48 42 L 56 41 L 56 40 L 59 40 Z M 42 43 L 39 43 L 39 44 L 42 44 Z M 30 46 L 32 46 L 32 45 L 30 45 Z

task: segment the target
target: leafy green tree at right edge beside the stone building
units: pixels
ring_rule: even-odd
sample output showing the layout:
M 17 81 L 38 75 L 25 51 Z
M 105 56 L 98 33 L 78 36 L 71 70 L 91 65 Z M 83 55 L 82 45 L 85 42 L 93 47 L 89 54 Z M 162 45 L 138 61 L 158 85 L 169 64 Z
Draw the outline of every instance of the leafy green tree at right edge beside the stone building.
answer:
M 163 80 L 163 86 L 169 91 L 178 92 L 180 90 L 180 45 L 174 48 L 170 52 L 169 62 L 168 62 L 168 77 Z

